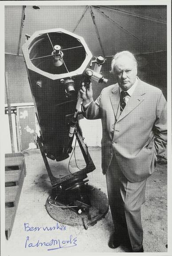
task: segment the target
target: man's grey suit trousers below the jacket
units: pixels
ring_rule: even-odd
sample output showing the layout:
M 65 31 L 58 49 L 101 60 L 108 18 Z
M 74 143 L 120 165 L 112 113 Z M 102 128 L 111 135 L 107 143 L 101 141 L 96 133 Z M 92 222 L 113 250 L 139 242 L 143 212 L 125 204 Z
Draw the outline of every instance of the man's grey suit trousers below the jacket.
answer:
M 115 231 L 120 231 L 121 226 L 128 230 L 133 252 L 143 245 L 141 204 L 145 203 L 146 181 L 132 183 L 127 180 L 113 156 L 106 172 L 110 211 Z

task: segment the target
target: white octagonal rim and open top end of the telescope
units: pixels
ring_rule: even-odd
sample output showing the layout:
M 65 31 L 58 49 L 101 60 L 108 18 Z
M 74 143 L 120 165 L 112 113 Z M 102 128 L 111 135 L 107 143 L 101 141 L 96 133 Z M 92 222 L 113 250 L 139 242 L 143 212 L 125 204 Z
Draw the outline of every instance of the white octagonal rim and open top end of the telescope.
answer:
M 28 69 L 52 80 L 82 75 L 92 58 L 85 40 L 63 28 L 35 32 L 22 52 Z

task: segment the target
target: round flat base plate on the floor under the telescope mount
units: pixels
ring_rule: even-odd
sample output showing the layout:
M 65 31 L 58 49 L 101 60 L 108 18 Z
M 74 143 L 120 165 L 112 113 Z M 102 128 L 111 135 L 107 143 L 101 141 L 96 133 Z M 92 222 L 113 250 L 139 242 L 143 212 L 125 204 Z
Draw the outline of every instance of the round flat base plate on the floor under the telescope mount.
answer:
M 46 209 L 48 214 L 56 221 L 69 226 L 93 226 L 98 220 L 101 220 L 108 212 L 109 203 L 106 195 L 98 188 L 88 185 L 88 197 L 91 206 L 89 213 L 81 212 L 80 214 L 71 208 L 57 207 L 51 205 L 47 199 Z M 73 208 L 74 209 L 74 208 Z

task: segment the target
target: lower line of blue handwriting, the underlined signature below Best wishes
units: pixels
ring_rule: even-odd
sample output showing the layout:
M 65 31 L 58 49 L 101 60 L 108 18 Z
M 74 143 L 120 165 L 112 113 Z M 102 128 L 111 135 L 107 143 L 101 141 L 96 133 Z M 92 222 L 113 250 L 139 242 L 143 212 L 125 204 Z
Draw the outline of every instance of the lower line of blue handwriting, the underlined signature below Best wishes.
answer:
M 77 237 L 72 237 L 72 235 L 70 235 L 69 240 L 62 240 L 60 241 L 59 239 L 51 239 L 49 242 L 44 242 L 44 241 L 37 241 L 36 243 L 31 243 L 29 236 L 27 236 L 26 238 L 26 242 L 25 242 L 25 248 L 31 248 L 31 247 L 42 247 L 42 246 L 48 246 L 48 247 L 53 247 L 53 248 L 48 248 L 47 251 L 52 251 L 52 250 L 57 250 L 60 248 L 69 248 L 69 247 L 73 247 L 76 246 L 77 242 Z M 55 246 L 55 248 L 54 248 Z

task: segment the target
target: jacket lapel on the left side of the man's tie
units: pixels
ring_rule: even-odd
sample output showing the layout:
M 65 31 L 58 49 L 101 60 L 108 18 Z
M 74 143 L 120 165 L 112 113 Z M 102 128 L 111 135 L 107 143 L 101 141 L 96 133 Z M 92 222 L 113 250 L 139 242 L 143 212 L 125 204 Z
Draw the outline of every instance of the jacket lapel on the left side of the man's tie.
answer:
M 116 86 L 112 90 L 112 94 L 109 96 L 112 104 L 113 112 L 116 120 L 120 115 L 120 96 L 119 96 L 119 86 Z

